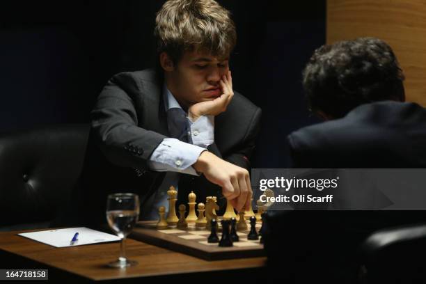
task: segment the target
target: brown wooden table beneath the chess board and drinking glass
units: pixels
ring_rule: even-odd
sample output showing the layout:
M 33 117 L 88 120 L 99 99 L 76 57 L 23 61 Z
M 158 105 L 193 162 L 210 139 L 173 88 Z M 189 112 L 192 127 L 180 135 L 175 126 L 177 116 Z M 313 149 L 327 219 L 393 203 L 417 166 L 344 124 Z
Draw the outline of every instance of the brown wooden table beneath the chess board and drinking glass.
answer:
M 55 248 L 17 233 L 0 233 L 0 268 L 49 269 L 49 280 L 58 282 L 142 283 L 143 280 L 143 283 L 149 283 L 164 280 L 173 283 L 201 281 L 197 283 L 203 284 L 221 283 L 220 277 L 240 282 L 262 279 L 266 263 L 265 257 L 207 261 L 127 239 L 127 257 L 139 265 L 111 269 L 105 264 L 118 257 L 120 245 L 117 242 Z

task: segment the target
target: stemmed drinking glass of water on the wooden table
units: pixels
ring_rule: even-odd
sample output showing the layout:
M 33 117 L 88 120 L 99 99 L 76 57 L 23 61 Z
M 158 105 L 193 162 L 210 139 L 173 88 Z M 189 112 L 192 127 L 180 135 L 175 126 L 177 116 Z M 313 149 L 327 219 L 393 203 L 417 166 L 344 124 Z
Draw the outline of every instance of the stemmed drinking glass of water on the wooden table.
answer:
M 139 196 L 136 194 L 110 194 L 107 199 L 107 220 L 109 227 L 121 238 L 120 257 L 110 262 L 110 267 L 129 267 L 137 265 L 128 260 L 125 252 L 125 240 L 139 219 Z

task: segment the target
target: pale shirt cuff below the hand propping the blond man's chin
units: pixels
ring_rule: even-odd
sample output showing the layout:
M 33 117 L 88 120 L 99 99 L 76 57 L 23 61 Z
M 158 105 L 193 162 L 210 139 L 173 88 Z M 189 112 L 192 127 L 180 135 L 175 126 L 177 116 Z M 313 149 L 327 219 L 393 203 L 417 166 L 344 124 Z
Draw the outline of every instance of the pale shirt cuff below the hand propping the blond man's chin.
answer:
M 188 118 L 191 144 L 207 148 L 214 143 L 214 116 L 200 116 L 195 122 Z

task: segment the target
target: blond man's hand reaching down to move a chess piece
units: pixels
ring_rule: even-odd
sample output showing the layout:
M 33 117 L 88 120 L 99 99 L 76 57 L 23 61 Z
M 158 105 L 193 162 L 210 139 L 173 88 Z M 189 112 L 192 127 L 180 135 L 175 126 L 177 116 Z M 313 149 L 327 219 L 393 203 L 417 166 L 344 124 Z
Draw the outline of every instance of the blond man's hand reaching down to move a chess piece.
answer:
M 251 183 L 245 168 L 224 161 L 208 151 L 202 152 L 193 166 L 207 180 L 222 187 L 223 196 L 237 211 L 244 206 L 250 207 Z

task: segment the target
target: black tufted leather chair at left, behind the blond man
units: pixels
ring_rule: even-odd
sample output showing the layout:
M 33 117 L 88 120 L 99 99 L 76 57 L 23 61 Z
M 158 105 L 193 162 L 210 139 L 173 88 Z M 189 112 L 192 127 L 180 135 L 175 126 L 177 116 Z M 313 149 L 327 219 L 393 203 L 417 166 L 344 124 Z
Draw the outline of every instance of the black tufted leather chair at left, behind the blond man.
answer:
M 55 125 L 0 134 L 0 230 L 48 228 L 65 214 L 79 192 L 89 129 Z

